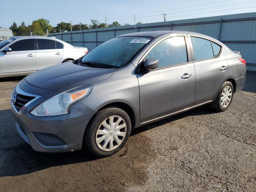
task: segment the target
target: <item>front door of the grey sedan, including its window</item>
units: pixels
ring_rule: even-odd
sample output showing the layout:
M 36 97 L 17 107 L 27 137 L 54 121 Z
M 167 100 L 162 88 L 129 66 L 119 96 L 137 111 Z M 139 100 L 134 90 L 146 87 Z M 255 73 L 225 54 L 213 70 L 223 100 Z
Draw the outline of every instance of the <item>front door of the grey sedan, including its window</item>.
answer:
M 194 64 L 188 62 L 185 36 L 162 40 L 146 58 L 159 59 L 159 66 L 138 74 L 140 121 L 148 122 L 193 106 L 196 76 Z

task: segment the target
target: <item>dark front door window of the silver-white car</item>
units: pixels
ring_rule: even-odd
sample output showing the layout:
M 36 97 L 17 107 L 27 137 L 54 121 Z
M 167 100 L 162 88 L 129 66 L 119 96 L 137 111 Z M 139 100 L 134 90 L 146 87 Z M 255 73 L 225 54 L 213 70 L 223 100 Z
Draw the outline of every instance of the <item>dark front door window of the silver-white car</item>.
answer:
M 12 51 L 29 51 L 35 50 L 35 40 L 34 39 L 23 39 L 15 42 L 9 46 Z

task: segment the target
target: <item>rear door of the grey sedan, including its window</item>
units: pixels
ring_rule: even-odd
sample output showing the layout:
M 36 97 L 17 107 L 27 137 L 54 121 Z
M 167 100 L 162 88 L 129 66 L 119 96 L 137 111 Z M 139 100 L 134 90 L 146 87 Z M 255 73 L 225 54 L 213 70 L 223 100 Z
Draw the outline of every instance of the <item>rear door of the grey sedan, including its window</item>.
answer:
M 192 57 L 196 70 L 195 104 L 213 100 L 228 76 L 224 48 L 211 39 L 190 35 Z

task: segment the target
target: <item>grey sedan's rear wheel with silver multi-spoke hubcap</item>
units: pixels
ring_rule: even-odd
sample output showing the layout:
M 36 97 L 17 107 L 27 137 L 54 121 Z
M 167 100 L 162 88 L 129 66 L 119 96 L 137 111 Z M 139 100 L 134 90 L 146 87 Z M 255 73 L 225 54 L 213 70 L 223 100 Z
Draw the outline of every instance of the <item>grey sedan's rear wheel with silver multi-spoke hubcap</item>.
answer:
M 227 94 L 226 94 L 227 91 Z M 230 96 L 231 93 L 231 96 Z M 211 103 L 211 107 L 219 112 L 225 111 L 230 106 L 234 95 L 234 88 L 231 82 L 226 81 L 222 85 L 220 91 L 214 102 Z M 223 100 L 224 98 L 224 100 Z

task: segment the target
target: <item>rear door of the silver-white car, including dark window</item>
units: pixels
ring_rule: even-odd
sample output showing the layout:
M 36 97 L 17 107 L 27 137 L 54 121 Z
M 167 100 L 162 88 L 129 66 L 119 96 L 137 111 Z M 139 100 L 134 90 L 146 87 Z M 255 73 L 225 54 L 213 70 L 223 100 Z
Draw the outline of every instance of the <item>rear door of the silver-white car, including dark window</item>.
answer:
M 57 65 L 63 54 L 63 44 L 51 39 L 37 39 L 38 50 L 36 50 L 37 70 Z

